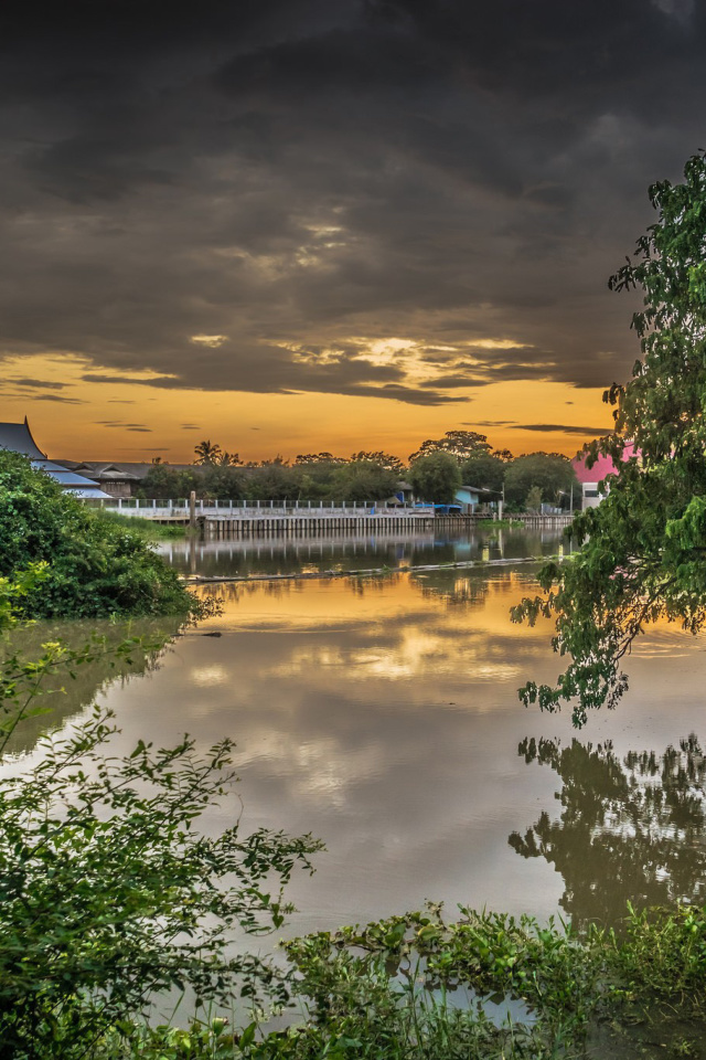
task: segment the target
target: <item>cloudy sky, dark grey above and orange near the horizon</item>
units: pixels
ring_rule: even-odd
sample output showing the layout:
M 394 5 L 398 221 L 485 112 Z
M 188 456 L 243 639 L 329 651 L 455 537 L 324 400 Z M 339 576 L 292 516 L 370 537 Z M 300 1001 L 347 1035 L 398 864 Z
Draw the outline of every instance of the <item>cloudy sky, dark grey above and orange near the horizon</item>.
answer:
M 10 0 L 0 420 L 55 458 L 573 455 L 705 59 L 692 0 Z

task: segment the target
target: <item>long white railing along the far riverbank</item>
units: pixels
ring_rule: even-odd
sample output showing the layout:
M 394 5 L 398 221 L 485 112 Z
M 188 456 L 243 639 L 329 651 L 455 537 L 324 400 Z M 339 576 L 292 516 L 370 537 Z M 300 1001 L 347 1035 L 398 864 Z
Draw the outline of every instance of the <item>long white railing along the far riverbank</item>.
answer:
M 190 513 L 189 500 L 141 500 L 138 497 L 116 497 L 111 500 L 90 502 L 93 507 L 119 511 L 125 516 L 141 516 L 145 519 L 179 519 L 188 518 Z M 365 516 L 425 518 L 434 516 L 434 507 L 413 506 L 407 504 L 392 505 L 372 501 L 279 501 L 279 500 L 216 500 L 201 499 L 195 501 L 196 517 L 227 519 L 259 519 L 270 516 L 293 516 L 315 519 Z

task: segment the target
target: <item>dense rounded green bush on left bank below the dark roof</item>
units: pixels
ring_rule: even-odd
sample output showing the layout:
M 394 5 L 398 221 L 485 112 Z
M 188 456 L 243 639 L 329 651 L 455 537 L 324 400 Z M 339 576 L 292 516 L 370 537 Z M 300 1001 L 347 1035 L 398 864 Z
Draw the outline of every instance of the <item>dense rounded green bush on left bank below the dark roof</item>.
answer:
M 0 575 L 45 563 L 21 598 L 25 617 L 197 613 L 199 604 L 143 538 L 97 518 L 43 471 L 0 452 Z

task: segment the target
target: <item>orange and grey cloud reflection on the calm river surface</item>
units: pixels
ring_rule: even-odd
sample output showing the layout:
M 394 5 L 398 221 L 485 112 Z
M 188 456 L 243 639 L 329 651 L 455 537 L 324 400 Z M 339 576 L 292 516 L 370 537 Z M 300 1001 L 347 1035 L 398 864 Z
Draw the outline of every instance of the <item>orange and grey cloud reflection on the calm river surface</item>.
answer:
M 554 837 L 561 813 L 563 776 L 527 767 L 518 743 L 558 746 L 573 735 L 568 713 L 544 716 L 517 700 L 523 680 L 552 679 L 560 666 L 547 625 L 509 619 L 534 587 L 531 569 L 425 575 L 210 587 L 222 615 L 186 632 L 143 677 L 101 693 L 122 729 L 116 751 L 138 739 L 172 743 L 184 731 L 204 749 L 228 735 L 244 827 L 324 839 L 313 880 L 292 884 L 301 913 L 290 931 L 427 898 L 451 910 L 463 902 L 548 916 L 565 892 L 590 890 L 595 879 L 590 829 L 566 863 L 518 858 L 507 842 L 545 816 Z M 654 630 L 630 660 L 631 692 L 619 710 L 590 719 L 578 748 L 610 740 L 618 756 L 634 746 L 660 754 L 698 731 L 700 656 L 699 640 Z M 94 677 L 100 690 L 108 675 Z M 82 688 L 74 709 L 86 701 Z M 231 824 L 233 812 L 213 808 L 206 829 Z M 602 899 L 591 912 L 577 899 L 571 914 L 612 916 L 637 895 L 634 873 L 610 879 L 608 912 Z

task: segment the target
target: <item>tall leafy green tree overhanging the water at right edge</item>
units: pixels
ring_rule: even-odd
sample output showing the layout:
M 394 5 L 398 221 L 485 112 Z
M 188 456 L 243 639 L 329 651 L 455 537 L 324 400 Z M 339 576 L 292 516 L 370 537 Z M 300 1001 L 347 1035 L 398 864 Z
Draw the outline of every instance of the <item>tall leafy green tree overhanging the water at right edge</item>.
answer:
M 573 661 L 556 686 L 530 682 L 526 703 L 555 710 L 614 706 L 627 677 L 620 660 L 660 616 L 696 633 L 706 621 L 706 159 L 686 163 L 684 182 L 650 189 L 657 219 L 637 256 L 611 278 L 614 290 L 639 287 L 633 316 L 642 359 L 627 385 L 613 384 L 616 432 L 589 447 L 612 457 L 617 473 L 598 508 L 582 511 L 571 533 L 582 544 L 571 563 L 548 564 L 545 596 L 525 600 L 514 617 L 556 622 L 555 648 Z M 634 443 L 629 459 L 625 445 Z

